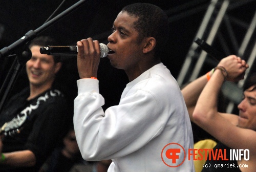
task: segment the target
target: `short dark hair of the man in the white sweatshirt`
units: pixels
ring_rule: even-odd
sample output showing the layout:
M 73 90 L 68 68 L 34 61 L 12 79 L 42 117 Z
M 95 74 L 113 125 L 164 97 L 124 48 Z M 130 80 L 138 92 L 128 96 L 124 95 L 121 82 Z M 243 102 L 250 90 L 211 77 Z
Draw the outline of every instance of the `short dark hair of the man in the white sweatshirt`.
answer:
M 157 41 L 156 51 L 164 47 L 168 35 L 169 25 L 166 13 L 159 7 L 147 3 L 135 3 L 125 6 L 122 11 L 138 17 L 134 28 L 139 32 L 138 41 L 145 37 L 154 37 Z

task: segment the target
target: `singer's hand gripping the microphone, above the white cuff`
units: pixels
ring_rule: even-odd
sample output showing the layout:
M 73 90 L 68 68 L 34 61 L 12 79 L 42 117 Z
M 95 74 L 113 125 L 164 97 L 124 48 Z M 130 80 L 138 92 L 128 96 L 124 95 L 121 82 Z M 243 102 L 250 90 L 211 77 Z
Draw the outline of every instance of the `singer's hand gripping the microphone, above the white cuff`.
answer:
M 100 46 L 98 40 L 92 38 L 77 41 L 77 68 L 79 77 L 97 77 L 100 61 Z

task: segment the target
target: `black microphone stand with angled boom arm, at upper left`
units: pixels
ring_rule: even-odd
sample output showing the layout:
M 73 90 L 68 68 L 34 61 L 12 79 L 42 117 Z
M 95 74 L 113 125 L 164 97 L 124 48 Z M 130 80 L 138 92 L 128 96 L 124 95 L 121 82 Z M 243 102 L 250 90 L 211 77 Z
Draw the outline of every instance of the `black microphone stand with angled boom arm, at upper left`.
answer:
M 69 7 L 65 11 L 61 12 L 51 20 L 49 20 L 47 23 L 43 24 L 36 30 L 30 30 L 28 31 L 22 38 L 15 41 L 13 44 L 11 44 L 8 47 L 3 48 L 0 50 L 0 61 L 4 58 L 10 55 L 12 52 L 16 52 L 16 58 L 12 63 L 11 69 L 8 72 L 8 75 L 4 81 L 4 84 L 1 87 L 0 90 L 0 97 L 2 97 L 0 102 L 0 113 L 3 109 L 3 105 L 6 102 L 7 97 L 9 96 L 11 89 L 13 88 L 13 83 L 15 82 L 20 70 L 23 68 L 23 66 L 26 64 L 26 62 L 31 58 L 32 54 L 28 47 L 26 46 L 27 42 L 33 40 L 38 33 L 46 30 L 51 25 L 55 24 L 60 20 L 61 18 L 67 16 L 74 10 L 76 10 L 78 7 L 80 7 L 82 4 L 86 3 L 86 0 L 80 0 L 73 6 Z M 11 74 L 13 73 L 13 74 Z M 8 81 L 9 80 L 9 81 Z

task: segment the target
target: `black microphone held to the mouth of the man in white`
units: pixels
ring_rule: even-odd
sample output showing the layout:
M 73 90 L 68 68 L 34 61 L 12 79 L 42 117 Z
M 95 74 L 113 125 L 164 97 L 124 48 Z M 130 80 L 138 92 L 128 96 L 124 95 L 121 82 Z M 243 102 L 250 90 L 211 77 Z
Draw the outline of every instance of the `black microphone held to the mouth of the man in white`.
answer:
M 100 57 L 105 57 L 109 53 L 109 48 L 100 43 Z M 77 55 L 77 46 L 46 46 L 40 47 L 41 54 L 48 55 Z

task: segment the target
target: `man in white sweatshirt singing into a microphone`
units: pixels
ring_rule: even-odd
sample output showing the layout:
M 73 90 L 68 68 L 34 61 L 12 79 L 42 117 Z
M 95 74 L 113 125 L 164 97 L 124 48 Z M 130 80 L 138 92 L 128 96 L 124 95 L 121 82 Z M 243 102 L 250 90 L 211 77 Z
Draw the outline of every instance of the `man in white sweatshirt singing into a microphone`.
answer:
M 80 79 L 74 127 L 82 157 L 112 159 L 108 171 L 115 172 L 194 171 L 194 162 L 184 159 L 193 148 L 186 105 L 158 54 L 168 37 L 167 15 L 152 4 L 128 5 L 117 15 L 112 30 L 107 57 L 113 67 L 125 71 L 130 82 L 119 104 L 105 112 L 97 79 L 99 42 L 92 38 L 77 42 Z M 173 142 L 186 150 L 172 164 L 177 167 L 166 165 L 161 158 L 164 146 Z

